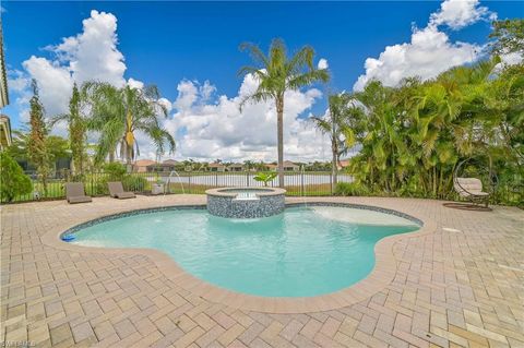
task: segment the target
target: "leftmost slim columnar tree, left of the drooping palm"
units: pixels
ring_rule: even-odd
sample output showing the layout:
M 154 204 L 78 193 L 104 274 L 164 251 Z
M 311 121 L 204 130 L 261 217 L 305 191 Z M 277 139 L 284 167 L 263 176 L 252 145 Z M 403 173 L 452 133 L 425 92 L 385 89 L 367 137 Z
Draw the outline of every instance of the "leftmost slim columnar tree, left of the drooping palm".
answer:
M 29 161 L 36 167 L 38 178 L 47 196 L 47 180 L 49 176 L 49 152 L 46 146 L 47 127 L 45 123 L 45 110 L 38 96 L 36 80 L 32 82 L 33 97 L 29 100 L 29 139 L 27 141 L 27 153 Z

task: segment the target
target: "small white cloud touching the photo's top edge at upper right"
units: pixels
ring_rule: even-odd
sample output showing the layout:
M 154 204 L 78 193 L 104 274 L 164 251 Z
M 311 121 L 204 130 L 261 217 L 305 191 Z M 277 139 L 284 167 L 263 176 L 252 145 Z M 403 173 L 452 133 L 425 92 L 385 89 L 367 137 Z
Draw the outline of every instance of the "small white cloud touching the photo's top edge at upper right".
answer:
M 497 19 L 496 13 L 478 4 L 478 0 L 445 0 L 440 4 L 440 11 L 431 14 L 430 25 L 448 25 L 452 29 L 460 29 L 480 20 Z

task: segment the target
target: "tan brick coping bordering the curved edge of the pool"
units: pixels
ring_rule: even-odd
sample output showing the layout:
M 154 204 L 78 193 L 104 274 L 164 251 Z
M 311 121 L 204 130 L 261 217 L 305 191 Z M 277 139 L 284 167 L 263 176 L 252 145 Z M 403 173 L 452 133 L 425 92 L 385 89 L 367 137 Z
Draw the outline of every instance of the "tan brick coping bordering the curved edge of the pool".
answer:
M 286 203 L 286 207 L 300 206 L 305 203 Z M 309 313 L 335 310 L 344 307 L 355 304 L 364 301 L 377 292 L 383 290 L 394 279 L 397 271 L 397 260 L 393 253 L 393 247 L 396 242 L 402 240 L 418 238 L 436 231 L 436 223 L 426 216 L 413 216 L 402 209 L 391 209 L 377 205 L 365 205 L 355 203 L 338 203 L 338 202 L 308 202 L 306 205 L 311 206 L 346 206 L 353 208 L 372 209 L 386 214 L 394 214 L 401 217 L 410 219 L 412 221 L 424 224 L 420 229 L 401 235 L 393 235 L 385 237 L 377 242 L 374 245 L 376 263 L 373 269 L 368 276 L 360 281 L 332 293 L 320 295 L 314 297 L 260 297 L 253 295 L 246 295 L 228 290 L 202 279 L 199 279 L 182 269 L 175 260 L 166 253 L 146 248 L 105 248 L 105 247 L 83 247 L 78 244 L 70 244 L 60 237 L 63 233 L 73 231 L 85 226 L 100 223 L 108 219 L 114 219 L 122 216 L 147 214 L 152 212 L 168 211 L 168 209 L 187 209 L 187 208 L 205 208 L 205 204 L 171 204 L 169 206 L 150 207 L 150 208 L 134 208 L 123 211 L 117 214 L 100 215 L 99 217 L 87 220 L 80 220 L 74 225 L 61 228 L 59 232 L 51 230 L 41 237 L 45 244 L 74 252 L 95 252 L 95 253 L 110 253 L 110 254 L 143 254 L 150 257 L 158 269 L 176 286 L 186 289 L 194 295 L 202 297 L 211 302 L 222 303 L 231 308 L 242 309 L 248 311 L 258 311 L 265 313 Z

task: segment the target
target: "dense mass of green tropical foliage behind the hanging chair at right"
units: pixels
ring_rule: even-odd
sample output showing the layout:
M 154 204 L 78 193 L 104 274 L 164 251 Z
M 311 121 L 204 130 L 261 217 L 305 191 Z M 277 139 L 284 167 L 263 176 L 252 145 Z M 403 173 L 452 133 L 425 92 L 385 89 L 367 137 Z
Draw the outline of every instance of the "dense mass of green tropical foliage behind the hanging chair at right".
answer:
M 361 109 L 350 118 L 360 152 L 349 171 L 376 194 L 452 197 L 453 172 L 465 158 L 481 155 L 500 172 L 519 166 L 523 71 L 522 64 L 500 70 L 493 57 L 426 82 L 369 83 L 352 95 Z

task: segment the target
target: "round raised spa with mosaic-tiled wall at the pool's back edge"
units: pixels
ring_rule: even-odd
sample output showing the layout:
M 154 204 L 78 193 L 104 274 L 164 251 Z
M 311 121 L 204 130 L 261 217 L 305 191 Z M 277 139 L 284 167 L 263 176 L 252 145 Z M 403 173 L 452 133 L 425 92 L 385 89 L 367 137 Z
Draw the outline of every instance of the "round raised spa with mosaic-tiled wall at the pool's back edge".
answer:
M 284 212 L 286 190 L 276 188 L 222 188 L 205 191 L 207 211 L 221 217 L 255 218 Z

